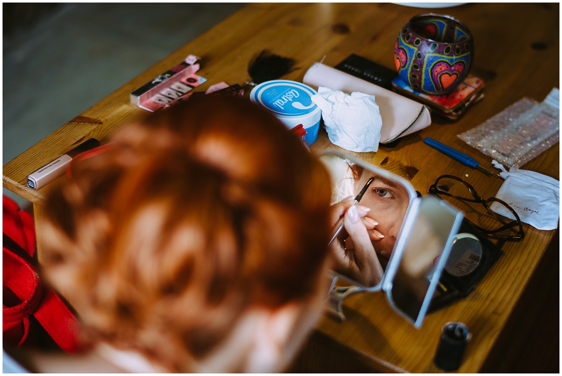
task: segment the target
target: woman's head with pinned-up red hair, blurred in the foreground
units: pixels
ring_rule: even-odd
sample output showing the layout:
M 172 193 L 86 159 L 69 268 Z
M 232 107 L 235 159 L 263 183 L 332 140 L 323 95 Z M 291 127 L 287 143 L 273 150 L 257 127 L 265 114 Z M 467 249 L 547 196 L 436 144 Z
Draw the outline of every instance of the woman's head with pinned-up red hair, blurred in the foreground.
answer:
M 44 266 L 85 338 L 171 371 L 276 372 L 318 319 L 329 177 L 242 98 L 193 99 L 73 167 Z

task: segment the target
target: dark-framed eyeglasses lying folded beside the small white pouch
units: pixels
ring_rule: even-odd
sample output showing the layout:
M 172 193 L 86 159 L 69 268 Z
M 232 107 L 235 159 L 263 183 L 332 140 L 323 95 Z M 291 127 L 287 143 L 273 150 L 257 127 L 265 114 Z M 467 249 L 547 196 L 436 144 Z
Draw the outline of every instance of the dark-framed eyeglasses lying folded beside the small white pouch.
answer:
M 483 198 L 478 196 L 478 193 L 476 193 L 476 190 L 472 187 L 472 185 L 466 183 L 463 179 L 457 178 L 456 176 L 452 175 L 441 175 L 437 178 L 435 183 L 431 187 L 429 187 L 429 193 L 435 196 L 439 196 L 439 194 L 445 194 L 446 196 L 456 198 L 460 201 L 481 203 L 484 208 L 486 208 L 486 210 L 493 216 L 493 218 L 501 223 L 498 228 L 490 230 L 484 229 L 471 222 L 484 234 L 488 234 L 493 237 L 513 240 L 520 240 L 525 236 L 525 233 L 523 232 L 523 224 L 519 219 L 519 215 L 517 215 L 517 213 L 511 208 L 511 206 L 496 197 L 490 197 L 487 200 L 484 200 Z M 515 220 L 506 220 L 506 218 L 503 218 L 493 212 L 492 209 L 490 209 L 490 205 L 493 202 L 497 202 L 498 204 L 505 206 L 505 208 L 509 210 L 511 214 L 513 214 Z

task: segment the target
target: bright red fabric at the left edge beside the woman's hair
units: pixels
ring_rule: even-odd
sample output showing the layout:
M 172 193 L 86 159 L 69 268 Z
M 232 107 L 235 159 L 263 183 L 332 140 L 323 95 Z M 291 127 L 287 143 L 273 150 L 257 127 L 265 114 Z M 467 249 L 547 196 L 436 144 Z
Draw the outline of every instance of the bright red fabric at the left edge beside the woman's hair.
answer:
M 52 289 L 42 286 L 34 266 L 33 218 L 4 196 L 2 219 L 3 339 L 24 343 L 33 315 L 62 350 L 78 350 L 78 321 Z

